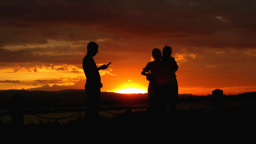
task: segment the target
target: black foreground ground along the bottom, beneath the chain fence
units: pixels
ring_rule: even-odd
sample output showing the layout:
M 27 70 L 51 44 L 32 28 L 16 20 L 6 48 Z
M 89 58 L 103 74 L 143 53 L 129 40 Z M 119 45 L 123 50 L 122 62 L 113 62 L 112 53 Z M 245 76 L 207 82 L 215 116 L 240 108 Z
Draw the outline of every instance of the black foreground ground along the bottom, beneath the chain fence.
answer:
M 124 113 L 112 118 L 80 117 L 67 124 L 57 121 L 14 126 L 1 124 L 2 140 L 26 143 L 166 144 L 249 143 L 256 131 L 256 106 L 230 108 L 220 113 L 177 110 L 175 113 Z

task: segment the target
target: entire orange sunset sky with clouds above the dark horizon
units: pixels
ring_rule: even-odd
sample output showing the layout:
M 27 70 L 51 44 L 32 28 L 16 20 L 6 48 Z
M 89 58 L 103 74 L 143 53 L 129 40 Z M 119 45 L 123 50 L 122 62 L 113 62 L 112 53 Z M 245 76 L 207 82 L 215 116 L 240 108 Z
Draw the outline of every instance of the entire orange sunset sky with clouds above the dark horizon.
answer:
M 147 92 L 140 73 L 166 44 L 179 94 L 256 91 L 254 0 L 0 0 L 0 90 L 84 89 L 90 41 L 112 62 L 102 91 Z

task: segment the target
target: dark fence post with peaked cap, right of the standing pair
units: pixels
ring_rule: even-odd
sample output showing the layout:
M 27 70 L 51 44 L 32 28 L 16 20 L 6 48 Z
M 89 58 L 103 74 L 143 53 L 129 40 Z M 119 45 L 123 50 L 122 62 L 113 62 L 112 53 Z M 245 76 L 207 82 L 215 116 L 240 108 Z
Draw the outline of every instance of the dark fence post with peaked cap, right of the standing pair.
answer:
M 212 99 L 213 99 L 213 111 L 220 113 L 224 110 L 224 97 L 223 90 L 216 89 L 212 91 Z

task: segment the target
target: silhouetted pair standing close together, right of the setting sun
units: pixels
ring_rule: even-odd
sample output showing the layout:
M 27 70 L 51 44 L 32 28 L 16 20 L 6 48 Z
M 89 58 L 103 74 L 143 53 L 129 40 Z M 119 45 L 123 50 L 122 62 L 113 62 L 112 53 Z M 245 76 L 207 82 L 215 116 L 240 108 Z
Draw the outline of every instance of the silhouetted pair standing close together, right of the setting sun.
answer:
M 178 70 L 178 65 L 171 57 L 170 46 L 164 46 L 162 54 L 158 48 L 154 48 L 152 50 L 154 61 L 148 62 L 141 72 L 149 81 L 147 112 L 152 110 L 158 113 L 166 112 L 167 103 L 170 105 L 170 112 L 176 110 L 178 82 L 175 72 Z

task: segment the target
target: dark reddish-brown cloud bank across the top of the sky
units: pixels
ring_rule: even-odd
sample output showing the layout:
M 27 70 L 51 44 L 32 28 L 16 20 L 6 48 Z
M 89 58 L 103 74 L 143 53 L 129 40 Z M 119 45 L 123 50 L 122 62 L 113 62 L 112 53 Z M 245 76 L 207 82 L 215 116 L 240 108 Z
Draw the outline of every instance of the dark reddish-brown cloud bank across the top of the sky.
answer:
M 252 39 L 256 36 L 256 2 L 252 0 L 12 0 L 1 3 L 0 26 L 5 32 L 0 36 L 2 46 L 46 43 L 47 38 L 108 38 L 115 34 L 169 39 L 180 36 L 182 39 L 177 42 L 177 39 L 170 41 L 195 46 L 256 46 Z M 206 40 L 198 40 L 201 37 Z

